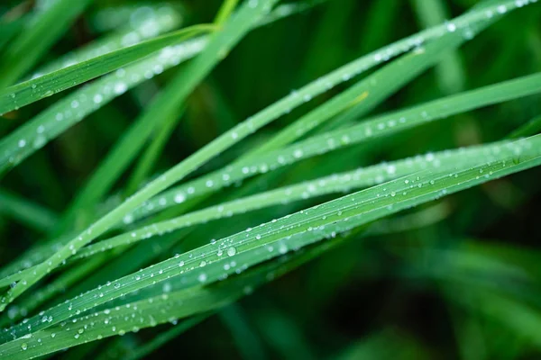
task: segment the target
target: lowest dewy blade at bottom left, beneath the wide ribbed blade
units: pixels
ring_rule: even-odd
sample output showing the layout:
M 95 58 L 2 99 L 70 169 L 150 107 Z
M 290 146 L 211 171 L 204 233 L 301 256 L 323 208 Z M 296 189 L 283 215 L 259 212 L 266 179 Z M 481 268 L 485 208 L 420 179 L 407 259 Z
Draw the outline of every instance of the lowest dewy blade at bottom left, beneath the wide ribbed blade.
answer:
M 307 252 L 294 254 L 287 258 L 284 264 L 277 262 L 252 269 L 249 273 L 235 276 L 232 281 L 216 284 L 211 288 L 195 288 L 188 291 L 174 291 L 151 296 L 139 302 L 131 302 L 121 307 L 105 309 L 78 318 L 69 330 L 65 326 L 56 326 L 36 333 L 30 338 L 10 342 L 0 346 L 0 355 L 22 356 L 32 358 L 49 354 L 65 347 L 73 347 L 88 341 L 100 340 L 115 335 L 124 335 L 129 331 L 155 327 L 165 322 L 175 322 L 188 313 L 201 313 L 193 320 L 200 320 L 214 312 L 217 308 L 234 302 L 252 289 L 265 284 L 272 279 L 286 274 L 292 269 L 306 263 L 339 243 L 339 240 L 322 244 L 320 247 L 309 249 Z M 134 312 L 136 311 L 136 312 Z M 136 315 L 134 315 L 136 313 Z M 98 320 L 99 321 L 96 321 Z M 186 320 L 191 324 L 190 320 Z M 105 329 L 98 329 L 97 324 L 105 323 Z M 75 326 L 75 327 L 73 327 Z M 82 329 L 82 331 L 81 331 Z M 68 333 L 68 336 L 64 334 Z M 35 346 L 35 344 L 39 346 Z M 43 347 L 43 345 L 47 345 Z M 137 353 L 136 353 L 137 354 Z M 136 355 L 135 354 L 135 355 Z M 18 358 L 18 357 L 16 357 Z

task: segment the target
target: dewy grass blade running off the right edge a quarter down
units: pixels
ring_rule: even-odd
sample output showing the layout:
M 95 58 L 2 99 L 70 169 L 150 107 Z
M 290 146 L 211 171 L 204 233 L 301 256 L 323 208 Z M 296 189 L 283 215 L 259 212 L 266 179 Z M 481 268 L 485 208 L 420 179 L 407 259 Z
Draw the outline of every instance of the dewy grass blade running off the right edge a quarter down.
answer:
M 248 158 L 232 166 L 226 166 L 186 184 L 176 186 L 159 196 L 144 202 L 131 213 L 129 219 L 175 206 L 182 202 L 214 193 L 253 175 L 267 173 L 280 166 L 287 166 L 307 157 L 314 157 L 339 148 L 349 147 L 362 141 L 378 139 L 401 130 L 422 126 L 427 121 L 443 120 L 460 112 L 515 99 L 541 91 L 541 73 L 524 76 L 496 85 L 484 86 L 461 94 L 450 95 L 409 109 L 390 112 L 363 121 L 344 130 L 335 130 L 312 137 L 287 148 L 271 151 L 255 158 Z M 210 185 L 210 186 L 209 186 Z

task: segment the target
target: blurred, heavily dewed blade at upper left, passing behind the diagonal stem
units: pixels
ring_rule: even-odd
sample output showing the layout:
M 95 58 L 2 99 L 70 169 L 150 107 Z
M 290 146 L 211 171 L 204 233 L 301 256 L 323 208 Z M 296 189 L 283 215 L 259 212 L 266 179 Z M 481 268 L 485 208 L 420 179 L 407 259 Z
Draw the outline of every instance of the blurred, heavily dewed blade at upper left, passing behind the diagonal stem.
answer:
M 280 6 L 276 11 L 279 12 L 279 10 Z M 301 10 L 303 9 L 301 8 Z M 271 15 L 266 15 L 253 27 L 257 28 L 265 23 L 270 23 L 265 20 L 268 16 L 273 19 L 285 17 L 274 15 L 274 13 Z M 109 103 L 116 96 L 124 94 L 133 86 L 160 74 L 163 70 L 177 66 L 180 62 L 194 57 L 205 48 L 206 42 L 206 37 L 200 37 L 175 47 L 168 47 L 163 49 L 160 54 L 141 60 L 132 66 L 120 68 L 115 73 L 97 79 L 92 84 L 65 96 L 34 117 L 32 121 L 28 121 L 0 140 L 0 175 L 45 146 L 51 139 L 55 139 L 77 121 L 84 119 L 87 114 Z

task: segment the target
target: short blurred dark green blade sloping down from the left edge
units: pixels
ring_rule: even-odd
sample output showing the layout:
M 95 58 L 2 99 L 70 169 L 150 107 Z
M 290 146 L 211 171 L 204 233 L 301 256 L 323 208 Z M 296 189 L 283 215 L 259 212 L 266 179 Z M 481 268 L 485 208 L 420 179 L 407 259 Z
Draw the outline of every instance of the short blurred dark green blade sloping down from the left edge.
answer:
M 47 232 L 58 220 L 57 214 L 41 205 L 0 189 L 0 213 L 38 231 Z

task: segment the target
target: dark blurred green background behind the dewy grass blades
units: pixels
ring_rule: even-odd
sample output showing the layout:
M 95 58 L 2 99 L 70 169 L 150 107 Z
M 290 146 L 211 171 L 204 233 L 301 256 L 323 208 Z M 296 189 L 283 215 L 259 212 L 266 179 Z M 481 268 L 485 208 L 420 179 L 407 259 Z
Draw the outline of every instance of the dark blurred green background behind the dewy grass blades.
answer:
M 32 3 L 4 0 L 0 19 L 23 16 Z M 438 16 L 463 14 L 475 3 L 328 0 L 252 31 L 191 94 L 182 121 L 155 164 L 155 173 L 177 164 L 299 86 L 439 23 Z M 188 25 L 212 22 L 221 2 L 167 4 L 178 5 Z M 41 65 L 102 36 L 96 14 L 103 14 L 103 9 L 143 5 L 96 0 Z M 438 67 L 418 76 L 371 114 L 540 71 L 540 19 L 538 4 L 509 14 L 460 51 L 449 53 Z M 2 191 L 32 199 L 54 219 L 174 71 L 137 86 L 79 122 L 6 175 Z M 198 174 L 224 165 L 350 84 L 337 86 L 280 118 Z M 0 135 L 60 96 L 6 114 L 0 121 Z M 426 124 L 363 145 L 361 156 L 357 146 L 307 159 L 262 176 L 256 187 L 264 190 L 380 161 L 504 139 L 541 114 L 540 100 L 538 95 L 530 96 Z M 124 180 L 117 184 L 118 189 Z M 539 358 L 540 191 L 541 169 L 535 168 L 361 229 L 340 247 L 205 320 L 149 358 Z M 191 234 L 184 248 L 200 245 L 201 238 L 220 238 L 314 203 L 298 202 L 215 221 Z M 0 214 L 0 264 L 5 265 L 41 233 L 5 211 L 2 203 Z M 159 258 L 174 252 L 160 248 L 160 240 L 152 250 Z M 108 347 L 91 344 L 74 351 L 87 347 L 81 353 L 84 356 L 122 358 L 156 331 L 146 329 L 107 340 Z

